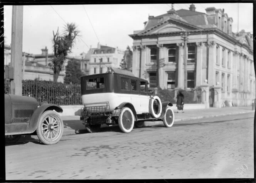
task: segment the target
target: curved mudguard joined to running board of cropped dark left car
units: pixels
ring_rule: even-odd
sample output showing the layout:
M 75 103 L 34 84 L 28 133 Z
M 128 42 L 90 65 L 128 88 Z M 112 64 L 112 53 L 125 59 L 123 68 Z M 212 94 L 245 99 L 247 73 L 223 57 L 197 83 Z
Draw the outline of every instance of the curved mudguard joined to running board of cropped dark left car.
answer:
M 46 110 L 55 110 L 56 112 L 62 113 L 63 110 L 60 106 L 56 104 L 43 104 L 42 106 L 38 107 L 35 112 L 33 113 L 30 120 L 24 123 L 17 123 L 15 124 L 15 129 L 12 132 L 8 133 L 8 129 L 11 128 L 13 124 L 6 124 L 5 128 L 7 133 L 5 135 L 17 135 L 17 134 L 31 134 L 37 129 L 38 120 L 43 112 Z

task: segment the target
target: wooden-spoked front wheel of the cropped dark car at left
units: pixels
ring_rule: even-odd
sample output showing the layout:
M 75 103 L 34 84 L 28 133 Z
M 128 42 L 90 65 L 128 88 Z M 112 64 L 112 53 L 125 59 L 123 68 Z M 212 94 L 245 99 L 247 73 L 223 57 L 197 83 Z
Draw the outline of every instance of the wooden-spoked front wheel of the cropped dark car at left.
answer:
M 61 116 L 53 110 L 47 110 L 40 116 L 36 131 L 39 140 L 50 145 L 61 140 L 63 130 Z

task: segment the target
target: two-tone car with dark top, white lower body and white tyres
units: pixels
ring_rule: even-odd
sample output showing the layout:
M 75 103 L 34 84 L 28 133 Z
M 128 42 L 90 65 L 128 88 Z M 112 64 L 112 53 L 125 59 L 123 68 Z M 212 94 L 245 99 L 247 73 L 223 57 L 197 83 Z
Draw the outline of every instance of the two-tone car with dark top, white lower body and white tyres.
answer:
M 161 102 L 148 90 L 148 81 L 130 71 L 111 68 L 107 73 L 81 77 L 84 107 L 80 120 L 89 132 L 100 130 L 101 124 L 118 124 L 128 133 L 143 127 L 145 121 L 162 120 L 172 127 L 174 113 L 171 102 Z

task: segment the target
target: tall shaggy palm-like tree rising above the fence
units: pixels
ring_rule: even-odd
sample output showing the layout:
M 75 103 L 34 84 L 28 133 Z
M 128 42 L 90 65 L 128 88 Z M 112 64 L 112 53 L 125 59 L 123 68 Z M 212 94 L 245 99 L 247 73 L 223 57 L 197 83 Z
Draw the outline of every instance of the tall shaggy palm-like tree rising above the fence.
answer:
M 67 23 L 62 35 L 59 34 L 59 28 L 56 34 L 54 34 L 54 31 L 52 32 L 54 49 L 54 58 L 52 58 L 53 81 L 57 82 L 59 73 L 63 69 L 64 60 L 71 53 L 71 49 L 76 43 L 76 38 L 80 36 L 80 31 L 75 23 Z

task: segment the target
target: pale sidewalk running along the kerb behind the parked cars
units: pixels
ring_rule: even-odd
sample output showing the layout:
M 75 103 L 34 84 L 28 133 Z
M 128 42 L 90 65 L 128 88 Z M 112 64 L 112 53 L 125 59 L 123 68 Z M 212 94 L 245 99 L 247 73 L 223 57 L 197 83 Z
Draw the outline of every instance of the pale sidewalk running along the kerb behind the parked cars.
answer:
M 223 107 L 223 108 L 210 108 L 210 109 L 190 109 L 185 110 L 184 113 L 177 113 L 177 108 L 173 107 L 174 115 L 175 115 L 175 122 L 184 121 L 184 120 L 194 120 L 194 119 L 202 119 L 208 117 L 218 117 L 218 116 L 225 116 L 225 115 L 234 115 L 234 114 L 244 114 L 244 113 L 251 113 L 255 112 L 252 110 L 251 106 L 248 107 Z M 70 115 L 70 116 L 62 116 L 62 120 L 64 123 L 64 133 L 63 135 L 72 135 L 76 133 L 86 133 L 87 130 L 85 126 L 80 121 L 79 115 Z M 163 124 L 162 121 L 147 121 L 145 122 L 145 126 L 153 126 Z M 107 125 L 102 125 L 101 127 L 107 127 Z

